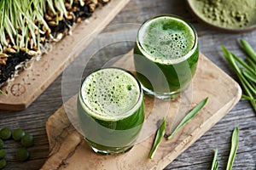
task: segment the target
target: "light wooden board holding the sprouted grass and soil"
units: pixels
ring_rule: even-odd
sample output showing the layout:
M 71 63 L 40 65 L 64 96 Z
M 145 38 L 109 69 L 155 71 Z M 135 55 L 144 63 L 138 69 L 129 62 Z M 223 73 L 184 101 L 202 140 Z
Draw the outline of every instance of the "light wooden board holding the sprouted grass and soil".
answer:
M 7 95 L 0 95 L 0 109 L 26 109 L 129 1 L 111 0 L 102 8 L 97 8 L 89 23 L 79 23 L 72 36 L 64 37 L 54 45 L 52 51 L 34 62 L 31 68 L 21 71 L 14 82 L 3 88 Z

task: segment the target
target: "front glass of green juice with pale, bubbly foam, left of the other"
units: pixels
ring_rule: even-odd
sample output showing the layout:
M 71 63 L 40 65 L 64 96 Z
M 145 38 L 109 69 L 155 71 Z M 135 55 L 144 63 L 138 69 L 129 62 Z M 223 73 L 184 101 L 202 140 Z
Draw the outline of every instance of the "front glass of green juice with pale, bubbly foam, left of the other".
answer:
M 123 153 L 131 149 L 143 126 L 143 89 L 129 71 L 93 71 L 81 84 L 78 113 L 84 139 L 94 151 Z

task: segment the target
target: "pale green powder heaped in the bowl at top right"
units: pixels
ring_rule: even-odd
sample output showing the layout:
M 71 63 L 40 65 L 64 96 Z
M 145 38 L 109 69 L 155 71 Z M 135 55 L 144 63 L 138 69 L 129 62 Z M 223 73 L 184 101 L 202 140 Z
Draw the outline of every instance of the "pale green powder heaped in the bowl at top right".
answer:
M 230 29 L 256 23 L 256 0 L 190 0 L 195 14 L 208 23 Z

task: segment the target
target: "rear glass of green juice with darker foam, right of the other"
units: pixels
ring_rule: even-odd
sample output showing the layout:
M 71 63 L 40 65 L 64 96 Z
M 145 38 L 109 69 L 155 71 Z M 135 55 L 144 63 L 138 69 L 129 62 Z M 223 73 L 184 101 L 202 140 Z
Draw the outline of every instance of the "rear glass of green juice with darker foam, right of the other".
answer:
M 199 57 L 195 28 L 171 15 L 146 20 L 137 32 L 134 65 L 147 94 L 172 99 L 189 87 Z

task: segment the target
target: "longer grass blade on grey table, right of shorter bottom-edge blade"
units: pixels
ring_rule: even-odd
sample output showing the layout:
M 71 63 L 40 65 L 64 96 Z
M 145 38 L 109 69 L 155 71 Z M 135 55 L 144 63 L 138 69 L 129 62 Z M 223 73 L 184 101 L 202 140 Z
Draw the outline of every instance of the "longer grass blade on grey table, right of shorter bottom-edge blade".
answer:
M 232 133 L 231 150 L 226 170 L 231 170 L 236 157 L 236 150 L 239 143 L 239 128 L 236 127 Z

